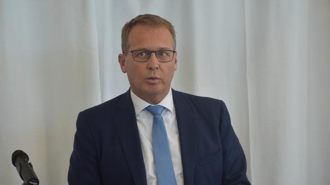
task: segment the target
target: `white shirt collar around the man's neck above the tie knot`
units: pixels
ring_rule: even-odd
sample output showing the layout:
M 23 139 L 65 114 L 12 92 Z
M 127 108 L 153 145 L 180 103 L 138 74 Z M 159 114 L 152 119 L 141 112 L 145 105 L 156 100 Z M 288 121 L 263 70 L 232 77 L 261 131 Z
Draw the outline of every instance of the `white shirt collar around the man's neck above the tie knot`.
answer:
M 144 108 L 150 106 L 148 102 L 142 100 L 139 98 L 137 95 L 134 94 L 132 90 L 130 90 L 130 98 L 132 99 L 133 105 L 134 105 L 134 110 L 135 110 L 135 115 L 138 115 Z M 162 99 L 159 104 L 173 113 L 174 109 L 174 103 L 173 103 L 173 96 L 172 96 L 172 88 L 170 88 L 170 91 L 166 95 L 164 99 Z

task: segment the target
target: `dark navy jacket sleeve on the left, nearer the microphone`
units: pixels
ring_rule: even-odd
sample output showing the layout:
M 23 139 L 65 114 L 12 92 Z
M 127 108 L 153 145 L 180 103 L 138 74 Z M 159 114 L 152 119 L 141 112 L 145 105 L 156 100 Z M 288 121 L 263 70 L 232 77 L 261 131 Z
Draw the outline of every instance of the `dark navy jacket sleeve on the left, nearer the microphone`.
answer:
M 70 185 L 101 185 L 101 175 L 93 135 L 83 112 L 77 118 L 77 131 L 68 173 Z

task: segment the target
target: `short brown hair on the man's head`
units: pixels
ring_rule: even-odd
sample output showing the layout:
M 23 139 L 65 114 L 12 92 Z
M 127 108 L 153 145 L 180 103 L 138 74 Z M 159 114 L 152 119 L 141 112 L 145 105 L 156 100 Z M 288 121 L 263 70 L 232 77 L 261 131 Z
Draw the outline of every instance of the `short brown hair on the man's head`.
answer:
M 137 24 L 150 26 L 150 27 L 154 27 L 154 28 L 158 28 L 160 26 L 167 27 L 173 38 L 174 50 L 176 49 L 177 41 L 176 41 L 174 26 L 169 21 L 167 21 L 166 19 L 163 19 L 159 16 L 151 15 L 151 14 L 144 14 L 144 15 L 138 15 L 137 17 L 133 18 L 129 22 L 126 22 L 124 27 L 121 29 L 121 50 L 122 50 L 122 52 L 127 52 L 128 48 L 129 48 L 129 43 L 128 43 L 129 32 L 133 28 L 133 26 L 135 26 Z

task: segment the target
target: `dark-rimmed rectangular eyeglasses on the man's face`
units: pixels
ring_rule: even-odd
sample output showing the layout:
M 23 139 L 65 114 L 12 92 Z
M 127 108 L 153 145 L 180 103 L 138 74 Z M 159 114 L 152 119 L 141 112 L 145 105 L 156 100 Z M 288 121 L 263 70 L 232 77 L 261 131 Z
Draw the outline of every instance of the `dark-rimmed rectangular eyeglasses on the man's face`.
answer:
M 128 52 L 123 52 L 128 53 Z M 156 58 L 159 62 L 171 62 L 174 58 L 176 51 L 172 50 L 158 50 L 158 51 L 149 51 L 149 50 L 132 50 L 130 51 L 133 56 L 133 60 L 137 62 L 147 62 L 152 53 L 155 53 Z

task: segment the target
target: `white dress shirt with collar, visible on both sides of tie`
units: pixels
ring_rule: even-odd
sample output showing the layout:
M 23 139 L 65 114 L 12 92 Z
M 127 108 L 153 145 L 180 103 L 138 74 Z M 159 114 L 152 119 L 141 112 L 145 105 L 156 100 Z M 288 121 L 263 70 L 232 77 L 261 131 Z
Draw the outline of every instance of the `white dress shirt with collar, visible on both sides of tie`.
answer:
M 133 101 L 138 123 L 143 160 L 146 169 L 147 184 L 157 185 L 157 173 L 152 146 L 153 116 L 151 113 L 144 109 L 150 104 L 136 96 L 131 90 L 130 97 Z M 183 185 L 183 170 L 181 161 L 179 131 L 171 88 L 168 95 L 157 105 L 161 105 L 166 108 L 161 113 L 161 115 L 163 117 L 166 132 L 169 138 L 169 146 L 171 151 L 175 179 L 177 181 L 177 185 Z

